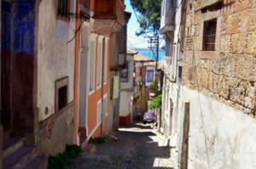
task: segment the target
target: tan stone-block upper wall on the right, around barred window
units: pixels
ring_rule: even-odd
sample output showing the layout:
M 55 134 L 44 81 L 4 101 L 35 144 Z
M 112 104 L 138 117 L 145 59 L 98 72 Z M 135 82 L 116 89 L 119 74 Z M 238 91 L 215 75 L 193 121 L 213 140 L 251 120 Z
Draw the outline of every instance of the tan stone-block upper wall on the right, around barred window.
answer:
M 183 85 L 256 116 L 256 1 L 187 6 Z M 215 2 L 215 3 L 214 3 Z M 212 5 L 212 6 L 211 6 Z M 215 51 L 202 50 L 203 22 L 217 18 Z

